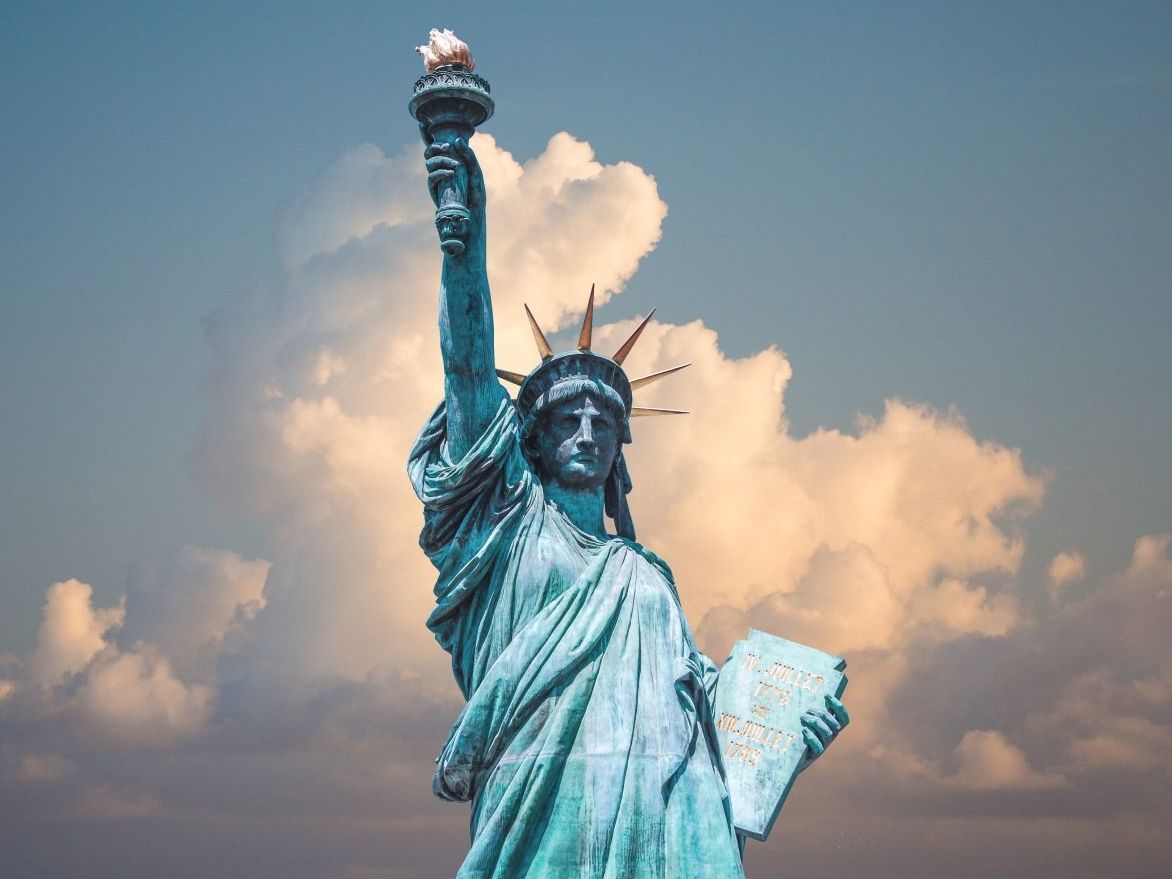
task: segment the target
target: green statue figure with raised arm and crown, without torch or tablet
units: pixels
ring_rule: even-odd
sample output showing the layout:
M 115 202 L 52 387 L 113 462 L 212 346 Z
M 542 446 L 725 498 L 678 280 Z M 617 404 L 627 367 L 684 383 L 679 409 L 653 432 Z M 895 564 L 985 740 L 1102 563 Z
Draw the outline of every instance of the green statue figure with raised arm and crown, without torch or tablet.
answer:
M 409 473 L 438 568 L 428 626 L 468 700 L 434 778 L 437 796 L 471 800 L 457 875 L 743 877 L 709 699 L 717 669 L 627 506 L 622 448 L 631 418 L 649 414 L 632 394 L 675 369 L 624 373 L 646 320 L 613 356 L 593 352 L 592 292 L 577 349 L 554 354 L 529 313 L 540 362 L 498 370 L 481 169 L 466 135 L 424 132 L 444 396 Z M 498 376 L 520 384 L 516 400 Z M 804 717 L 806 761 L 846 722 L 832 697 Z

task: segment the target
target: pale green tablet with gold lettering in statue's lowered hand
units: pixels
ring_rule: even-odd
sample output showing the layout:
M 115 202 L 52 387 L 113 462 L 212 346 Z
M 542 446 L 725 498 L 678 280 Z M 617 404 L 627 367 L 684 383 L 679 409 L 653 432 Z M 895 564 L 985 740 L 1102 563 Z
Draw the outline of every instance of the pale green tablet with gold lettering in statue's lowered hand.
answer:
M 757 629 L 734 646 L 713 708 L 738 832 L 769 836 L 805 752 L 802 713 L 843 695 L 845 668 L 840 656 Z

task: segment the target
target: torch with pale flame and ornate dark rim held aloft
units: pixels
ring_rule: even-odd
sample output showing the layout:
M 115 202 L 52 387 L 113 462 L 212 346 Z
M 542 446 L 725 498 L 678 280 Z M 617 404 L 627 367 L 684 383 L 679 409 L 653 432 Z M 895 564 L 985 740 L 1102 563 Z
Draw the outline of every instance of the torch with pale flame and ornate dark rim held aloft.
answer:
M 415 81 L 415 95 L 407 105 L 418 120 L 428 143 L 468 143 L 476 127 L 492 115 L 492 96 L 486 80 L 472 73 L 476 62 L 468 43 L 451 30 L 432 29 L 423 55 L 427 73 Z M 436 230 L 440 247 L 452 257 L 464 252 L 468 240 L 468 172 L 461 168 L 440 186 Z

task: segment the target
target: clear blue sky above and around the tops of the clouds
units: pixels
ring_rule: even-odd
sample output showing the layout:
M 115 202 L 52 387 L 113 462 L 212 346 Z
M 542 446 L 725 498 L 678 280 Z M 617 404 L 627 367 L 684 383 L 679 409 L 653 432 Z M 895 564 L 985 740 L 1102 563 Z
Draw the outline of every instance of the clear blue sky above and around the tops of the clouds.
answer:
M 277 552 L 192 479 L 204 323 L 275 282 L 282 205 L 340 155 L 417 142 L 432 26 L 518 161 L 568 131 L 654 176 L 662 239 L 606 320 L 778 346 L 797 437 L 895 397 L 1020 449 L 1045 498 L 984 577 L 1026 608 L 1056 553 L 1091 591 L 1172 530 L 1166 4 L 9 2 L 0 653 L 54 581 L 108 606 L 180 545 Z

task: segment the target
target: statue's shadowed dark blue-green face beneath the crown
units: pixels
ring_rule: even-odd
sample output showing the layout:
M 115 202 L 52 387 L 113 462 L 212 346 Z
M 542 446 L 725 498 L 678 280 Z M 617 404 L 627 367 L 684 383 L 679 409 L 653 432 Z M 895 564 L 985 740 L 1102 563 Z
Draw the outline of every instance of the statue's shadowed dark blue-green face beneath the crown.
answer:
M 597 489 L 611 473 L 619 425 L 590 394 L 554 406 L 545 415 L 538 450 L 541 473 L 567 489 Z

